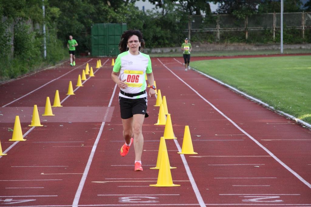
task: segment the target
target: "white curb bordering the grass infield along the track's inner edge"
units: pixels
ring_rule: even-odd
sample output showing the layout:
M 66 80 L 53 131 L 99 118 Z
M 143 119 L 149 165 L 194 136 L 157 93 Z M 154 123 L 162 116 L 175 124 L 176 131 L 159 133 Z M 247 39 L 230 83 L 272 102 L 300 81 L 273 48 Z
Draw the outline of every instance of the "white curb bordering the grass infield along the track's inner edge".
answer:
M 176 60 L 175 58 L 174 58 L 174 60 L 177 61 L 177 62 L 179 62 L 180 64 L 182 64 L 180 61 Z M 286 117 L 288 117 L 288 118 L 290 118 L 290 119 L 295 120 L 296 122 L 298 122 L 298 123 L 300 123 L 300 124 L 303 124 L 303 125 L 306 126 L 306 127 L 311 128 L 311 124 L 309 124 L 309 123 L 307 123 L 307 122 L 305 122 L 305 121 L 303 121 L 303 120 L 301 120 L 301 119 L 298 119 L 298 118 L 296 118 L 295 116 L 292 116 L 292 115 L 290 115 L 290 114 L 287 114 L 287 113 L 285 113 L 284 111 L 276 110 L 273 106 L 270 106 L 269 104 L 267 104 L 267 103 L 265 103 L 265 102 L 263 102 L 263 101 L 260 101 L 260 100 L 257 99 L 257 98 L 254 98 L 254 97 L 252 97 L 252 96 L 250 96 L 250 95 L 248 95 L 248 94 L 246 94 L 246 93 L 244 93 L 244 92 L 242 92 L 242 91 L 239 91 L 238 89 L 236 89 L 236 88 L 234 88 L 234 87 L 232 87 L 232 86 L 230 86 L 230 85 L 228 85 L 228 84 L 226 84 L 226 83 L 223 83 L 223 82 L 221 82 L 220 80 L 218 80 L 218 79 L 216 79 L 216 78 L 213 78 L 213 77 L 211 77 L 211 76 L 209 76 L 209 75 L 207 75 L 207 74 L 205 74 L 205 73 L 202 73 L 201 71 L 198 71 L 198 70 L 196 70 L 196 69 L 194 69 L 194 68 L 191 68 L 191 69 L 194 70 L 194 71 L 196 71 L 196 72 L 198 72 L 199 74 L 202 74 L 202 75 L 206 76 L 207 78 L 212 79 L 213 81 L 216 81 L 217 83 L 219 83 L 219 84 L 221 84 L 221 85 L 224 85 L 225 87 L 230 88 L 231 90 L 233 90 L 233 91 L 235 91 L 235 92 L 237 92 L 237 93 L 239 93 L 239 94 L 241 94 L 241 95 L 243 95 L 243 96 L 245 96 L 245 97 L 248 97 L 248 98 L 251 99 L 252 101 L 256 101 L 257 103 L 260 103 L 260 104 L 262 104 L 262 105 L 268 107 L 269 109 L 271 109 L 271 110 L 273 110 L 273 111 L 276 111 L 276 112 L 278 112 L 278 113 L 280 113 L 280 114 L 282 114 L 282 115 L 284 115 L 284 116 L 286 116 Z

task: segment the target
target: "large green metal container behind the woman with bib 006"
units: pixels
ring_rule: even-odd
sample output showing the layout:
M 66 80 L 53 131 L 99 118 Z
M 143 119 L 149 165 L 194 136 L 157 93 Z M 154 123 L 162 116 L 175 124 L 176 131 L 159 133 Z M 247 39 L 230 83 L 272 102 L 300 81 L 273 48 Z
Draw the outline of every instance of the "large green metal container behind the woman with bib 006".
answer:
M 91 28 L 92 56 L 117 56 L 121 35 L 126 24 L 94 24 Z

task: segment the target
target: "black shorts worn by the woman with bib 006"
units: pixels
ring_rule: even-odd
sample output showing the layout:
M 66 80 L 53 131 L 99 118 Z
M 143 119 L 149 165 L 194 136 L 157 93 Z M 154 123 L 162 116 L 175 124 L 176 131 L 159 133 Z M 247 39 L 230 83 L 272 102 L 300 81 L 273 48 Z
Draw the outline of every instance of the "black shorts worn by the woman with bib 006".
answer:
M 134 114 L 144 114 L 148 117 L 147 97 L 132 99 L 119 96 L 119 104 L 122 119 L 129 119 Z

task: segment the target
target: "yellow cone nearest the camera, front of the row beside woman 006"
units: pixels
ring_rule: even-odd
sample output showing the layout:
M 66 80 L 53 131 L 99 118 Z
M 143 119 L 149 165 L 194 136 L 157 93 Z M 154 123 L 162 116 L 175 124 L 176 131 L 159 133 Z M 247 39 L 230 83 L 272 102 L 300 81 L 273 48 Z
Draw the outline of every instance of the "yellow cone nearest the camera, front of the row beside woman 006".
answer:
M 171 169 L 169 169 L 169 155 L 167 151 L 162 151 L 158 180 L 156 184 L 150 185 L 154 187 L 175 187 L 180 186 L 173 183 Z

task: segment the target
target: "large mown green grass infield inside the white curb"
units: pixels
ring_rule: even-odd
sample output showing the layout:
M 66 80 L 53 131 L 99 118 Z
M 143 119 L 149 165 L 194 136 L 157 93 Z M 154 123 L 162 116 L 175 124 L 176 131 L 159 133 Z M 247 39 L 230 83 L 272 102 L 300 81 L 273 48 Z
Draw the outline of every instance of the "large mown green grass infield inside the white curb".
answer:
M 311 56 L 205 60 L 190 66 L 311 123 Z

